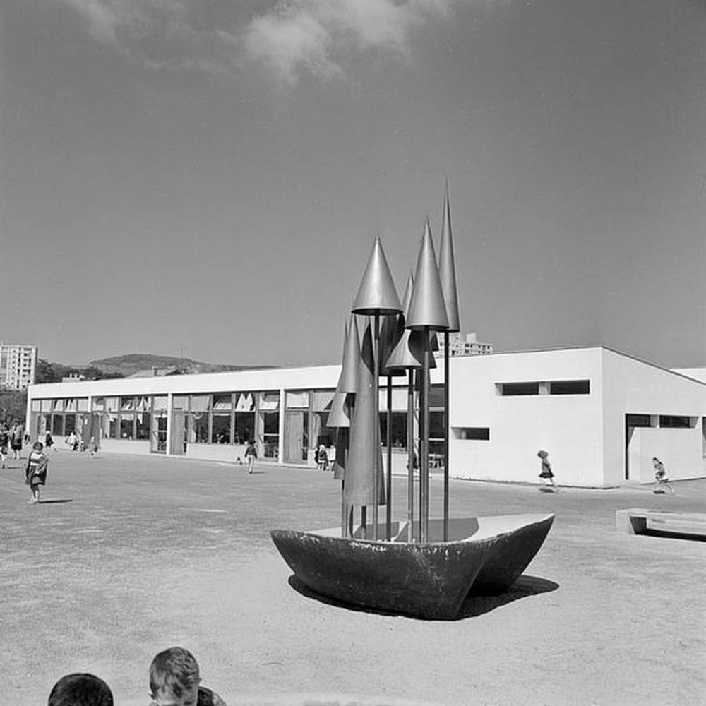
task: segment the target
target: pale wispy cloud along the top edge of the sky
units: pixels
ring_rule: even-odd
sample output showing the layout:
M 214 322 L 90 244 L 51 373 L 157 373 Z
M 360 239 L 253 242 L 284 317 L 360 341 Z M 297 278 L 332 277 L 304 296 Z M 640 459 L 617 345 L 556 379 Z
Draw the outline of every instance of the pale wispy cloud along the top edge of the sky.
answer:
M 462 0 L 279 0 L 243 30 L 198 23 L 202 1 L 61 0 L 95 40 L 145 66 L 222 73 L 244 58 L 290 85 L 302 73 L 342 76 L 355 54 L 405 59 L 414 29 Z

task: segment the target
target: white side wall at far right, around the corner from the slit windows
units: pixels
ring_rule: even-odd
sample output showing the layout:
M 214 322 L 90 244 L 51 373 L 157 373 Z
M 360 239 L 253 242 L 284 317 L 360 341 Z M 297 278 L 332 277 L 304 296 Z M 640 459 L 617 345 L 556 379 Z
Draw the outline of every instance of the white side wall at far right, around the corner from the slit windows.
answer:
M 702 417 L 706 385 L 624 354 L 604 349 L 604 466 L 609 484 L 625 479 L 625 415 L 698 417 L 693 429 L 635 429 L 630 440 L 630 479 L 654 479 L 652 457 L 671 479 L 706 475 Z M 634 446 L 633 446 L 634 444 Z

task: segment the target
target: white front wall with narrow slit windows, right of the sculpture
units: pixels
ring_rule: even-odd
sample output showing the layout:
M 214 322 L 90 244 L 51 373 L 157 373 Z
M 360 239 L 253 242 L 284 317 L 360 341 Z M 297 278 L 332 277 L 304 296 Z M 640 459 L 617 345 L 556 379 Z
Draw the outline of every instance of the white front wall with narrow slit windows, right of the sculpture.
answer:
M 452 477 L 538 482 L 549 452 L 559 484 L 602 486 L 601 349 L 450 360 L 451 426 L 489 427 L 490 441 L 450 441 Z M 590 380 L 589 395 L 501 396 L 496 383 Z

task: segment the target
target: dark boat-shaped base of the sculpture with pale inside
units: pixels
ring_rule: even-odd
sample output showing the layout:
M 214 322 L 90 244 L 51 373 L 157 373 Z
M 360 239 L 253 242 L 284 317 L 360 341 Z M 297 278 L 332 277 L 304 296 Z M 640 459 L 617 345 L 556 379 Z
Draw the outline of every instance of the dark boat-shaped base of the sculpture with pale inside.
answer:
M 340 528 L 273 530 L 273 542 L 299 580 L 337 601 L 423 618 L 455 618 L 469 592 L 500 594 L 520 578 L 546 538 L 554 515 L 498 515 L 430 520 L 430 541 L 409 542 L 394 522 L 392 541 L 340 536 Z M 367 527 L 368 534 L 371 527 Z M 412 537 L 417 536 L 414 523 Z M 385 536 L 378 525 L 378 537 Z

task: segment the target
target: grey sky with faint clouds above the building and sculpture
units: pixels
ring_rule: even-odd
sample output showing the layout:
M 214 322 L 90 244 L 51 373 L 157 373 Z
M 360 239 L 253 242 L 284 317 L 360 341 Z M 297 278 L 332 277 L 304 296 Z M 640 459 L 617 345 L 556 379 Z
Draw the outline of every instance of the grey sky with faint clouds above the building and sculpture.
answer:
M 340 361 L 448 180 L 496 351 L 706 366 L 704 0 L 5 0 L 0 338 Z

